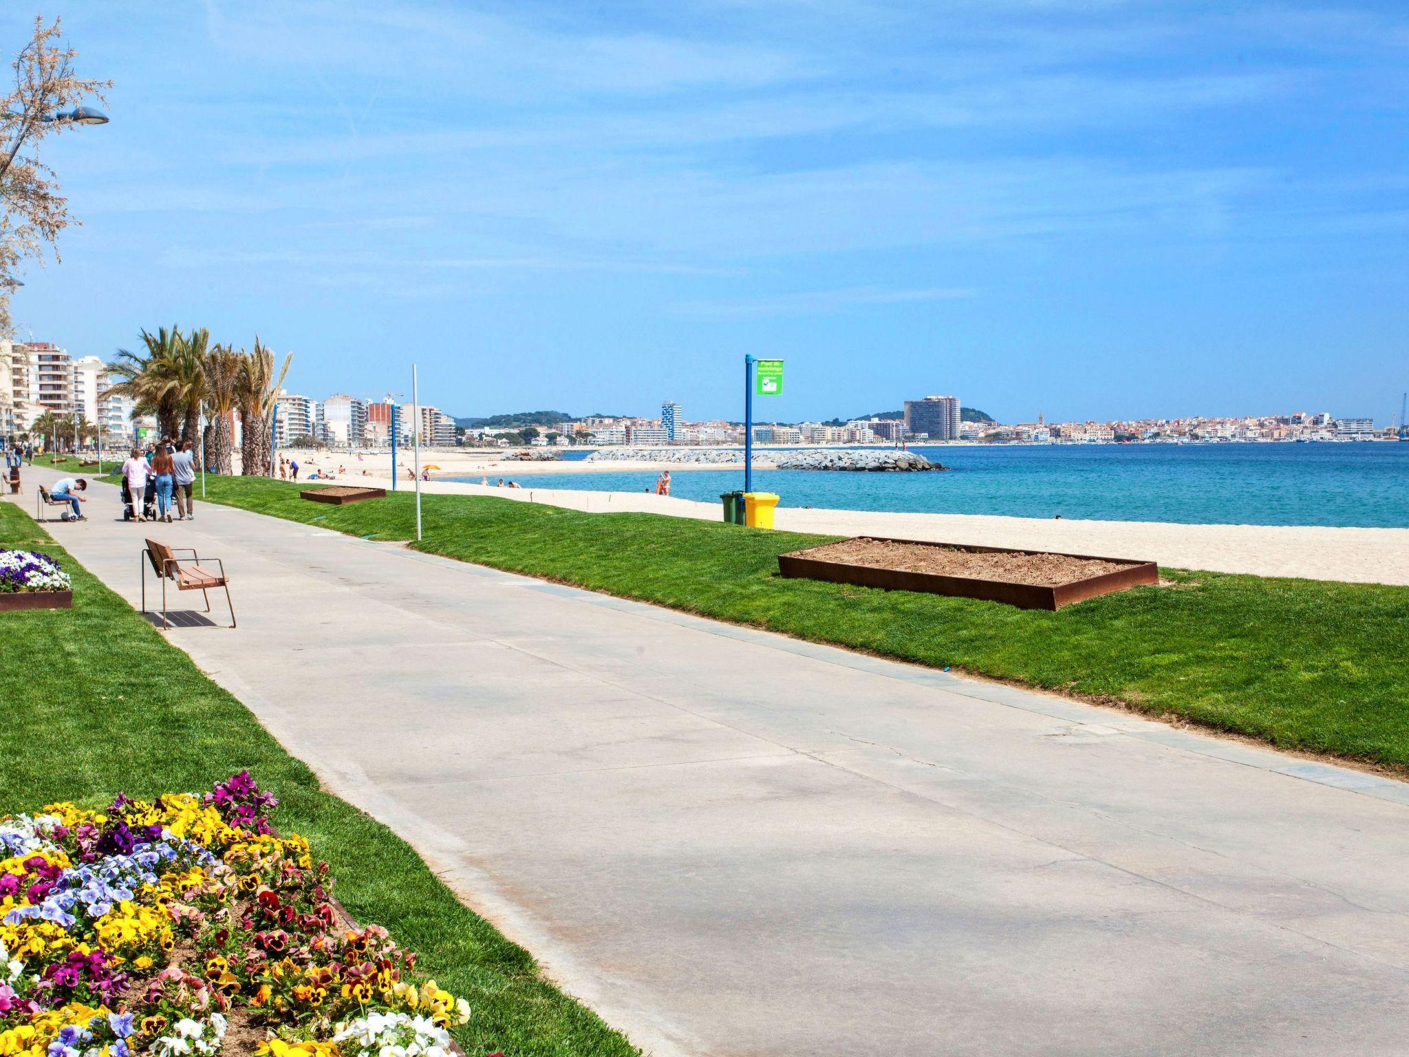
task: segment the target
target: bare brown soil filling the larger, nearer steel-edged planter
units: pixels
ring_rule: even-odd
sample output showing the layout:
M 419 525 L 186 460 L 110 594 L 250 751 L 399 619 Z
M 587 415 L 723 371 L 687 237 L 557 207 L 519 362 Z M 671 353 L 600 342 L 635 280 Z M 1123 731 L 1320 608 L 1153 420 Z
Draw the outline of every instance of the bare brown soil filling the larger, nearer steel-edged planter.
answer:
M 1102 558 L 1072 558 L 1065 554 L 1044 552 L 986 552 L 965 551 L 960 547 L 924 543 L 890 543 L 888 540 L 843 540 L 813 547 L 809 558 L 834 561 L 844 565 L 868 565 L 876 569 L 902 572 L 933 572 L 941 576 L 995 579 L 1005 583 L 1030 583 L 1055 588 L 1078 579 L 1102 576 L 1129 569 L 1127 562 Z

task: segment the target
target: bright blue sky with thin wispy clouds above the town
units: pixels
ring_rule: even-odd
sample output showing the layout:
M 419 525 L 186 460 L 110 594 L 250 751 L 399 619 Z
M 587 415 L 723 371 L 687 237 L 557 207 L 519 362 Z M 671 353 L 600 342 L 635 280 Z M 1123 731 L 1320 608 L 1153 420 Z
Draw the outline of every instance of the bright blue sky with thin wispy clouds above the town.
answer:
M 1014 421 L 1409 388 L 1409 11 L 1130 0 L 93 0 L 111 124 L 35 338 L 204 324 L 313 396 Z M 13 52 L 27 17 L 0 14 Z

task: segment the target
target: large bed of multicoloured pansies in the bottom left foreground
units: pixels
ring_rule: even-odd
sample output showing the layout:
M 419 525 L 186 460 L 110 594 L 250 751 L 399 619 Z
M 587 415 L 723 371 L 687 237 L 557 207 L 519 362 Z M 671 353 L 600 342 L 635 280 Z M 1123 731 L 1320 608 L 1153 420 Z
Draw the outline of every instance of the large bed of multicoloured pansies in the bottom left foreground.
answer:
M 0 819 L 0 1056 L 449 1057 L 469 1008 L 351 926 L 248 772 Z

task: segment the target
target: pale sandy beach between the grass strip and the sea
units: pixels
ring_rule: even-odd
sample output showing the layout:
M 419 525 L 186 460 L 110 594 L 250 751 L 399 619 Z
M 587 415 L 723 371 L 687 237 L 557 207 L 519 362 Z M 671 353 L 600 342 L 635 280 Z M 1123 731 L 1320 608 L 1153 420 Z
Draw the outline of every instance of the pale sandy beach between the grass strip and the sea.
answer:
M 589 513 L 644 512 L 674 517 L 719 520 L 717 503 L 648 495 L 645 492 L 589 492 L 533 488 L 534 474 L 590 474 L 596 469 L 658 471 L 662 464 L 635 462 L 517 462 L 502 452 L 454 451 L 423 452 L 423 462 L 440 466 L 433 479 L 421 485 L 426 493 L 492 495 L 526 503 L 547 503 Z M 390 488 L 389 455 L 345 452 L 299 452 L 300 476 L 309 468 L 348 472 L 345 483 L 369 483 Z M 397 452 L 397 465 L 402 452 Z M 688 466 L 668 466 L 672 472 Z M 719 466 L 703 466 L 719 469 Z M 364 476 L 366 471 L 366 476 Z M 480 486 L 434 476 L 479 475 L 490 482 L 500 476 L 519 481 L 517 489 Z M 397 488 L 411 482 L 403 476 Z M 1084 521 L 989 514 L 886 513 L 872 510 L 823 510 L 779 507 L 776 526 L 799 533 L 834 536 L 883 536 L 936 543 L 1016 547 L 1024 550 L 1065 551 L 1109 558 L 1140 558 L 1161 565 L 1213 572 L 1246 572 L 1258 576 L 1301 576 L 1346 581 L 1351 583 L 1409 585 L 1409 528 L 1337 528 L 1323 526 L 1255 524 L 1172 524 L 1162 521 Z

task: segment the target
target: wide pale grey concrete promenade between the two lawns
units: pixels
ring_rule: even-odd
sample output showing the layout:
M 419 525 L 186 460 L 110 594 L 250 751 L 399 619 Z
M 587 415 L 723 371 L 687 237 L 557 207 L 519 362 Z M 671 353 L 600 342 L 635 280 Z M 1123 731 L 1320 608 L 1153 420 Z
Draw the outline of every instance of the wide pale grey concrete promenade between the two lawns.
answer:
M 1405 1051 L 1403 784 L 89 495 L 56 540 L 134 602 L 145 534 L 224 558 L 240 627 L 170 641 L 651 1053 Z

